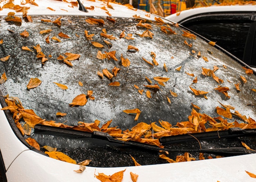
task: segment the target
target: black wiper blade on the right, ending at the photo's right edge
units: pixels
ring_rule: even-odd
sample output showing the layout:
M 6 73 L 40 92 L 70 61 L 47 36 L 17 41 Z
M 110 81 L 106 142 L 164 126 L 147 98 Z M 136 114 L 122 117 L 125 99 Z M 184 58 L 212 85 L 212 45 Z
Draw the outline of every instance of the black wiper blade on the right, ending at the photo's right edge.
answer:
M 164 136 L 159 138 L 159 142 L 163 145 L 170 143 L 182 143 L 193 140 L 211 140 L 216 138 L 236 138 L 242 136 L 255 136 L 255 130 L 245 130 L 239 127 L 229 128 L 228 130 L 215 132 L 202 132 L 193 134 L 183 134 L 176 136 Z

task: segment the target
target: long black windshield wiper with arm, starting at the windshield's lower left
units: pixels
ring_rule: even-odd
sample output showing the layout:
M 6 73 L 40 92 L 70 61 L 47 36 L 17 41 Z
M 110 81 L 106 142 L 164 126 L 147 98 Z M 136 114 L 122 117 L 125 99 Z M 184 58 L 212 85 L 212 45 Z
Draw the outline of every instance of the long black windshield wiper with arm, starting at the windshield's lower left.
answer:
M 47 125 L 35 125 L 34 128 L 35 134 L 46 134 L 46 135 L 54 135 L 54 136 L 66 136 L 66 137 L 76 137 L 76 138 L 94 138 L 99 140 L 106 140 L 110 143 L 116 143 L 121 145 L 130 145 L 132 147 L 139 147 L 143 149 L 149 149 L 154 151 L 168 151 L 168 152 L 202 152 L 202 153 L 212 153 L 220 156 L 236 156 L 243 155 L 249 153 L 256 153 L 256 151 L 248 150 L 244 147 L 230 147 L 230 148 L 219 148 L 219 149 L 168 149 L 168 148 L 160 148 L 155 145 L 150 145 L 146 143 L 139 143 L 135 141 L 122 141 L 117 140 L 110 136 L 110 134 L 105 132 L 83 132 L 74 129 L 53 127 Z

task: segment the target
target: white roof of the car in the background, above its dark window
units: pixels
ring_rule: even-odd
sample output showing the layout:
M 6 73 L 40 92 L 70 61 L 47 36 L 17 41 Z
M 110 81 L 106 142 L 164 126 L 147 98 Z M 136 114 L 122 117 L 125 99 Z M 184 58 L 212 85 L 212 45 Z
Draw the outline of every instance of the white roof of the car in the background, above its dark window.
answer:
M 166 16 L 167 20 L 171 20 L 176 23 L 182 22 L 182 20 L 187 19 L 194 15 L 200 14 L 211 14 L 211 13 L 231 13 L 231 12 L 256 12 L 256 4 L 244 4 L 244 5 L 213 5 L 209 7 L 195 7 L 191 9 L 186 9 L 174 13 L 172 15 Z

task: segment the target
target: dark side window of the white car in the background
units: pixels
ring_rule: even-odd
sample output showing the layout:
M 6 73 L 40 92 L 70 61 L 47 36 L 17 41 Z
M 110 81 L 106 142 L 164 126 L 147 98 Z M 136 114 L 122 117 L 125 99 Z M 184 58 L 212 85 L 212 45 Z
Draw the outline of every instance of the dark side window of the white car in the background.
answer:
M 216 42 L 217 45 L 243 60 L 250 15 L 198 15 L 181 23 L 188 29 Z

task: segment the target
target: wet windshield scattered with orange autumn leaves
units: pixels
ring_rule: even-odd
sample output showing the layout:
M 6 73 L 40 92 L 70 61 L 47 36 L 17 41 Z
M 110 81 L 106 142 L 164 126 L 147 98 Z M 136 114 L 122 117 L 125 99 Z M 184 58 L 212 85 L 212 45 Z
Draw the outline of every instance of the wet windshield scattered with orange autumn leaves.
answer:
M 253 128 L 256 77 L 252 70 L 178 26 L 161 20 L 145 22 L 138 16 L 32 16 L 33 22 L 22 24 L 4 18 L 0 58 L 5 59 L 0 73 L 7 81 L 0 88 L 3 95 L 18 97 L 25 109 L 33 110 L 40 118 L 38 124 L 55 121 L 61 127 L 81 129 L 85 123 L 95 123 L 99 131 L 123 140 L 135 140 L 135 126 L 150 126 L 140 130 L 135 141 Z M 23 126 L 28 111 L 18 111 Z M 169 128 L 160 124 L 165 121 Z M 45 145 L 56 147 L 78 162 L 92 160 L 91 166 L 133 165 L 129 155 L 144 165 L 165 162 L 158 153 L 136 147 L 34 133 L 34 124 L 25 138 L 36 139 L 42 151 Z M 93 132 L 97 127 L 81 130 Z M 115 131 L 122 135 L 117 137 Z M 240 140 L 202 146 L 218 148 L 223 143 L 239 146 Z M 199 148 L 197 141 L 167 147 Z

